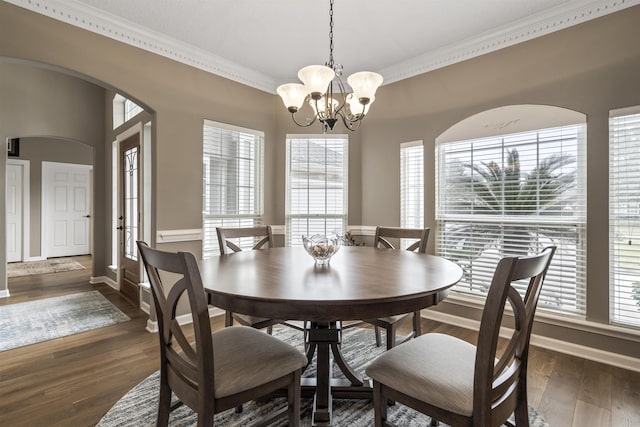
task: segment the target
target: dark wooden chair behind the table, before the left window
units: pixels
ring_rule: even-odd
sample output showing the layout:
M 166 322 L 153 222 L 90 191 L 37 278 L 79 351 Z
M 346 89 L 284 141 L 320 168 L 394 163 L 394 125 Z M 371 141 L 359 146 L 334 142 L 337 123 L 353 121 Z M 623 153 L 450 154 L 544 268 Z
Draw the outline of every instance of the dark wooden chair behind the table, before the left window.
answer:
M 270 225 L 238 228 L 216 227 L 216 233 L 218 234 L 218 244 L 220 245 L 220 254 L 222 255 L 242 251 L 238 239 L 252 239 L 251 245 L 253 246 L 251 249 L 272 248 L 274 246 Z M 267 328 L 269 335 L 273 332 L 273 325 L 283 323 L 283 320 L 267 319 L 227 311 L 225 313 L 225 326 L 233 326 L 234 321 L 256 329 Z

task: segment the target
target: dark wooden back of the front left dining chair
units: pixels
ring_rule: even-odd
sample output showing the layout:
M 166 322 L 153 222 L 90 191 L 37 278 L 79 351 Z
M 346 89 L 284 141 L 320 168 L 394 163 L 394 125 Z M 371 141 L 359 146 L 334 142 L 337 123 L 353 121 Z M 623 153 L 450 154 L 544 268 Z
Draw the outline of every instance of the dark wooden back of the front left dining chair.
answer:
M 213 420 L 214 360 L 209 309 L 198 263 L 188 252 L 169 253 L 137 242 L 144 263 L 158 320 L 160 339 L 160 400 L 178 399 L 198 413 L 199 420 Z M 178 301 L 186 295 L 193 316 L 195 343 L 187 339 L 176 320 Z M 160 411 L 169 411 L 160 405 Z M 159 414 L 158 420 L 167 419 Z

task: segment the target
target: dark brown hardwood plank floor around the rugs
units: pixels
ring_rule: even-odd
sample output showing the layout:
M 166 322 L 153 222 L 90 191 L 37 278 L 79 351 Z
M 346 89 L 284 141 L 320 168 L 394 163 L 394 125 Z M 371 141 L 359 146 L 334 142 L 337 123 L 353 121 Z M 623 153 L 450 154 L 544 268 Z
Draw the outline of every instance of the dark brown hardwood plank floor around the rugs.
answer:
M 94 426 L 134 385 L 158 369 L 157 336 L 147 315 L 86 270 L 9 280 L 14 304 L 99 290 L 132 320 L 115 326 L 0 353 L 0 426 Z M 214 328 L 223 319 L 212 320 Z M 474 342 L 476 333 L 423 319 L 423 333 L 442 332 Z M 529 403 L 552 427 L 640 426 L 640 373 L 532 348 Z

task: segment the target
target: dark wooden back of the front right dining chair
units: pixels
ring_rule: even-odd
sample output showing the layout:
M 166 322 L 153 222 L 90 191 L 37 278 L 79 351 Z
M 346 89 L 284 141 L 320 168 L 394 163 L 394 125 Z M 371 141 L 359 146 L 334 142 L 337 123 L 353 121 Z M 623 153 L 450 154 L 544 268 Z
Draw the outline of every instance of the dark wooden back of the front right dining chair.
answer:
M 506 257 L 496 267 L 482 313 L 475 363 L 474 418 L 479 425 L 504 420 L 516 411 L 516 424 L 528 420 L 526 373 L 529 341 L 542 282 L 556 247 L 529 257 Z M 524 298 L 513 286 L 528 281 Z M 497 355 L 498 336 L 506 302 L 513 309 L 514 329 L 502 354 Z M 496 362 L 497 358 L 497 362 Z M 524 390 L 523 390 L 524 389 Z M 524 409 L 523 409 L 524 408 Z

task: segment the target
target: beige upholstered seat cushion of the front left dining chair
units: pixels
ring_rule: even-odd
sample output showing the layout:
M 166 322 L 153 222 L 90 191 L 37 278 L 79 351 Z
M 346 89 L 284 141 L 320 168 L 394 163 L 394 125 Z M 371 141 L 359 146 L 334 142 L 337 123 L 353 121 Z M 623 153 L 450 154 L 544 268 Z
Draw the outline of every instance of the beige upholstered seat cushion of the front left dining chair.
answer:
M 224 328 L 212 337 L 216 398 L 268 383 L 307 364 L 295 347 L 247 326 Z

